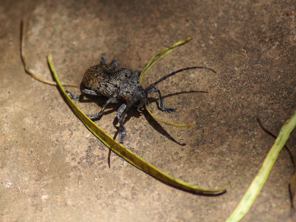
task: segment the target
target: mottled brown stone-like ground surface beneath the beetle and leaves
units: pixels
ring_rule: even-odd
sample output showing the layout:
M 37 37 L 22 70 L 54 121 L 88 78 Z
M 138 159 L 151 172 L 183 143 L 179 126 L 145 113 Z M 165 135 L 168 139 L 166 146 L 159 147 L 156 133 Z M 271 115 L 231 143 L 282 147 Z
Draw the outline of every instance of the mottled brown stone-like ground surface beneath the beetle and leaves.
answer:
M 274 139 L 296 109 L 295 1 L 1 1 L 0 221 L 225 221 L 258 173 Z M 28 18 L 30 16 L 30 18 Z M 87 68 L 116 59 L 141 69 L 159 50 L 193 37 L 144 78 L 160 83 L 175 114 L 131 109 L 124 145 L 164 172 L 219 196 L 194 195 L 163 184 L 111 154 L 81 123 L 55 86 L 30 77 L 20 57 L 20 24 L 29 19 L 25 52 L 35 72 L 52 79 L 51 52 L 62 81 L 80 84 Z M 245 51 L 242 51 L 245 50 Z M 67 87 L 73 93 L 79 89 Z M 106 98 L 77 102 L 96 113 Z M 87 102 L 89 101 L 89 102 Z M 96 123 L 115 135 L 110 105 Z M 296 134 L 288 143 L 296 155 Z M 185 146 L 181 144 L 186 143 Z M 293 165 L 283 149 L 242 221 L 293 221 L 288 182 Z M 294 203 L 296 204 L 296 203 Z

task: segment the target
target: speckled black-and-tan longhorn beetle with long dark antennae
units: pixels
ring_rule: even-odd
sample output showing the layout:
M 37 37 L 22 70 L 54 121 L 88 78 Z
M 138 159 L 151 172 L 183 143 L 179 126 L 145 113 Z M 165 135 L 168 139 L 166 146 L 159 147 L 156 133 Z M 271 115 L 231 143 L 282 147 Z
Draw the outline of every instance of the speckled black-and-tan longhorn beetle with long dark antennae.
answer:
M 132 105 L 135 105 L 139 112 L 141 112 L 141 110 L 143 110 L 145 107 L 149 106 L 149 103 L 147 101 L 147 94 L 158 92 L 159 108 L 165 112 L 174 113 L 176 111 L 176 109 L 166 108 L 163 106 L 163 99 L 161 97 L 160 91 L 155 87 L 158 83 L 170 76 L 189 69 L 204 68 L 216 73 L 213 69 L 202 66 L 182 68 L 178 71 L 168 74 L 167 76 L 162 77 L 161 79 L 159 79 L 155 83 L 150 84 L 146 89 L 144 89 L 139 81 L 139 70 L 136 70 L 133 75 L 133 71 L 126 68 L 118 67 L 116 60 L 112 60 L 109 65 L 106 64 L 105 58 L 106 55 L 103 54 L 101 64 L 90 67 L 84 74 L 82 85 L 85 87 L 85 89 L 82 90 L 81 95 L 72 95 L 68 91 L 67 94 L 71 99 L 82 99 L 83 94 L 94 96 L 104 95 L 110 98 L 107 100 L 100 112 L 93 115 L 87 115 L 91 120 L 97 119 L 98 117 L 103 115 L 103 112 L 109 103 L 126 101 L 123 105 L 119 107 L 117 111 L 117 119 L 120 124 L 119 132 L 121 130 L 121 135 L 119 139 L 120 143 L 123 143 L 123 140 L 126 136 L 126 128 L 123 125 L 123 118 L 125 114 L 128 112 Z

